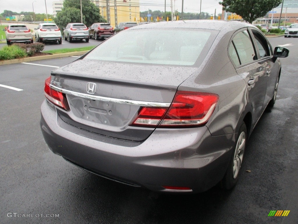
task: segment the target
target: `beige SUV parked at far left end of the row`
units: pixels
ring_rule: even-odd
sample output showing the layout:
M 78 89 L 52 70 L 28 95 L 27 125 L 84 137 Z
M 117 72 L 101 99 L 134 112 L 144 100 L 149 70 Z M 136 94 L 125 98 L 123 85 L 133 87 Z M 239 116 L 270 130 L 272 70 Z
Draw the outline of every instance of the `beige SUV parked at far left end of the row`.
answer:
M 5 29 L 6 43 L 33 43 L 31 30 L 21 24 L 9 24 Z

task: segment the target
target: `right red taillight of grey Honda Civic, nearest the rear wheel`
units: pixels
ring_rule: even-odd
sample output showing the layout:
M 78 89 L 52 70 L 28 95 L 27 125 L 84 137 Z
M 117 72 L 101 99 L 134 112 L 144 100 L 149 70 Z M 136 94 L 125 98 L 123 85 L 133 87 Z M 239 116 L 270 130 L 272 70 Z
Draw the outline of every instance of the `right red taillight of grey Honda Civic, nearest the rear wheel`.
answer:
M 143 107 L 132 125 L 159 128 L 204 125 L 211 117 L 217 102 L 216 94 L 177 91 L 169 108 Z

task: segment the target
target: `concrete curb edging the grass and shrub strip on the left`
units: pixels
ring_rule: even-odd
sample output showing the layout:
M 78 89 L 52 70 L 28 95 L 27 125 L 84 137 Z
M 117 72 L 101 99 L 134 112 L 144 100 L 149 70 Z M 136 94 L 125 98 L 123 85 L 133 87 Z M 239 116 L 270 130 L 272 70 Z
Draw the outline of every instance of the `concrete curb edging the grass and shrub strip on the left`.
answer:
M 83 55 L 83 54 L 86 54 L 87 52 L 89 52 L 89 50 L 69 52 L 69 53 L 64 53 L 64 54 L 50 54 L 50 55 L 45 55 L 45 56 L 36 56 L 36 57 L 27 57 L 27 58 L 13 59 L 13 60 L 5 60 L 5 61 L 0 61 L 0 65 L 11 65 L 11 64 L 18 64 L 18 63 L 22 63 L 22 62 L 34 62 L 34 61 L 46 60 L 46 59 L 65 58 L 65 57 Z

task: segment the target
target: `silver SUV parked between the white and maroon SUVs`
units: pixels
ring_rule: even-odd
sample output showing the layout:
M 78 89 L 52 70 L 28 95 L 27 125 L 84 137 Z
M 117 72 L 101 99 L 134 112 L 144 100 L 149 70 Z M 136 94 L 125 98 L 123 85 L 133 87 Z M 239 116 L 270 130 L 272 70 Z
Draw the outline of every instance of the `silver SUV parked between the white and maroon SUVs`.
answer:
M 63 28 L 64 40 L 72 42 L 73 40 L 85 40 L 89 42 L 89 31 L 83 23 L 69 23 Z

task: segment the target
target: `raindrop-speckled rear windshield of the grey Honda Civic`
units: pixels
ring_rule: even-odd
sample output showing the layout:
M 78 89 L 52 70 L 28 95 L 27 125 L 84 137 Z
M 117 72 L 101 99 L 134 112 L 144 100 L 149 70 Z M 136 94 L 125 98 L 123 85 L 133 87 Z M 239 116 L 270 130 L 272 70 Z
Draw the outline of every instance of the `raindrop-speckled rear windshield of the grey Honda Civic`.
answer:
M 194 65 L 205 58 L 217 31 L 198 29 L 125 30 L 102 42 L 85 58 L 113 62 Z

